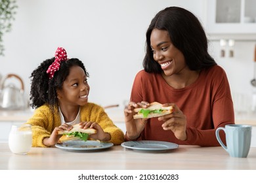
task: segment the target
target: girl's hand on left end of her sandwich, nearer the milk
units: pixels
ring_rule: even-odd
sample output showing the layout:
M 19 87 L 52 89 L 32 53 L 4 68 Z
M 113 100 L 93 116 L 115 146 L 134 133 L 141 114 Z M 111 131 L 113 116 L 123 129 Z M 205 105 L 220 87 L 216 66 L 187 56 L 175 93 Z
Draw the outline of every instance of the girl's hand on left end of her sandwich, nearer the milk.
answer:
M 51 136 L 49 138 L 43 139 L 43 144 L 45 144 L 45 146 L 53 146 L 58 142 L 58 139 L 60 139 L 60 137 L 62 136 L 62 135 L 58 135 L 58 131 L 64 131 L 64 130 L 69 131 L 72 128 L 73 128 L 72 125 L 68 125 L 68 124 L 62 124 L 59 127 L 55 127 Z

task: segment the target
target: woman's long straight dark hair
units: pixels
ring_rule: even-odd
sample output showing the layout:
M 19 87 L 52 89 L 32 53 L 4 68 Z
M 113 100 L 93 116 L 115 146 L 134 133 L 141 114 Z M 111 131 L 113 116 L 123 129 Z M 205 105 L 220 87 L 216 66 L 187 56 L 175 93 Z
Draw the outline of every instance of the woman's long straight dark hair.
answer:
M 192 12 L 181 7 L 168 7 L 152 19 L 146 31 L 146 55 L 144 70 L 148 73 L 161 73 L 160 65 L 154 61 L 150 36 L 153 29 L 168 31 L 173 45 L 179 49 L 192 71 L 217 65 L 208 53 L 208 42 L 200 21 Z

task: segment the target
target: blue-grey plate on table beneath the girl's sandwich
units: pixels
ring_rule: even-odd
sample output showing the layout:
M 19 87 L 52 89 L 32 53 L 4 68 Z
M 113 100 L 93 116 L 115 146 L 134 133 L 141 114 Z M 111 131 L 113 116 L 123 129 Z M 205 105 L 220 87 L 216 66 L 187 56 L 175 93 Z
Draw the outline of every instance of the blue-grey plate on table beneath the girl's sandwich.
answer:
M 94 151 L 114 146 L 111 142 L 99 142 L 99 141 L 66 141 L 62 144 L 56 144 L 57 148 L 70 151 Z

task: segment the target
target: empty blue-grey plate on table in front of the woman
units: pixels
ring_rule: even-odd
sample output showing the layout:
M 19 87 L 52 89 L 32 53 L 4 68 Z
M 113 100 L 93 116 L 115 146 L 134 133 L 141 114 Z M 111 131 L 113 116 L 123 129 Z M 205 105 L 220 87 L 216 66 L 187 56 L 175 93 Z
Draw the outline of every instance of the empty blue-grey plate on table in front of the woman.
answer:
M 163 141 L 129 141 L 123 142 L 121 146 L 124 148 L 148 152 L 163 152 L 179 147 L 178 144 Z

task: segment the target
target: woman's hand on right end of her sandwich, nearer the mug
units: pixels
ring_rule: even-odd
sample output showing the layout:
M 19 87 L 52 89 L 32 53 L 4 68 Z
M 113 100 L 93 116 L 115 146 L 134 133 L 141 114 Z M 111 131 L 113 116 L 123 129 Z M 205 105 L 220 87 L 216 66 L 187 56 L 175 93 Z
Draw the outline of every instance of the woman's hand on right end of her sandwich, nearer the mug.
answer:
M 163 106 L 173 106 L 174 110 L 173 113 L 158 118 L 158 120 L 163 121 L 161 127 L 163 127 L 163 130 L 173 131 L 177 139 L 186 141 L 186 116 L 175 104 L 165 104 Z

